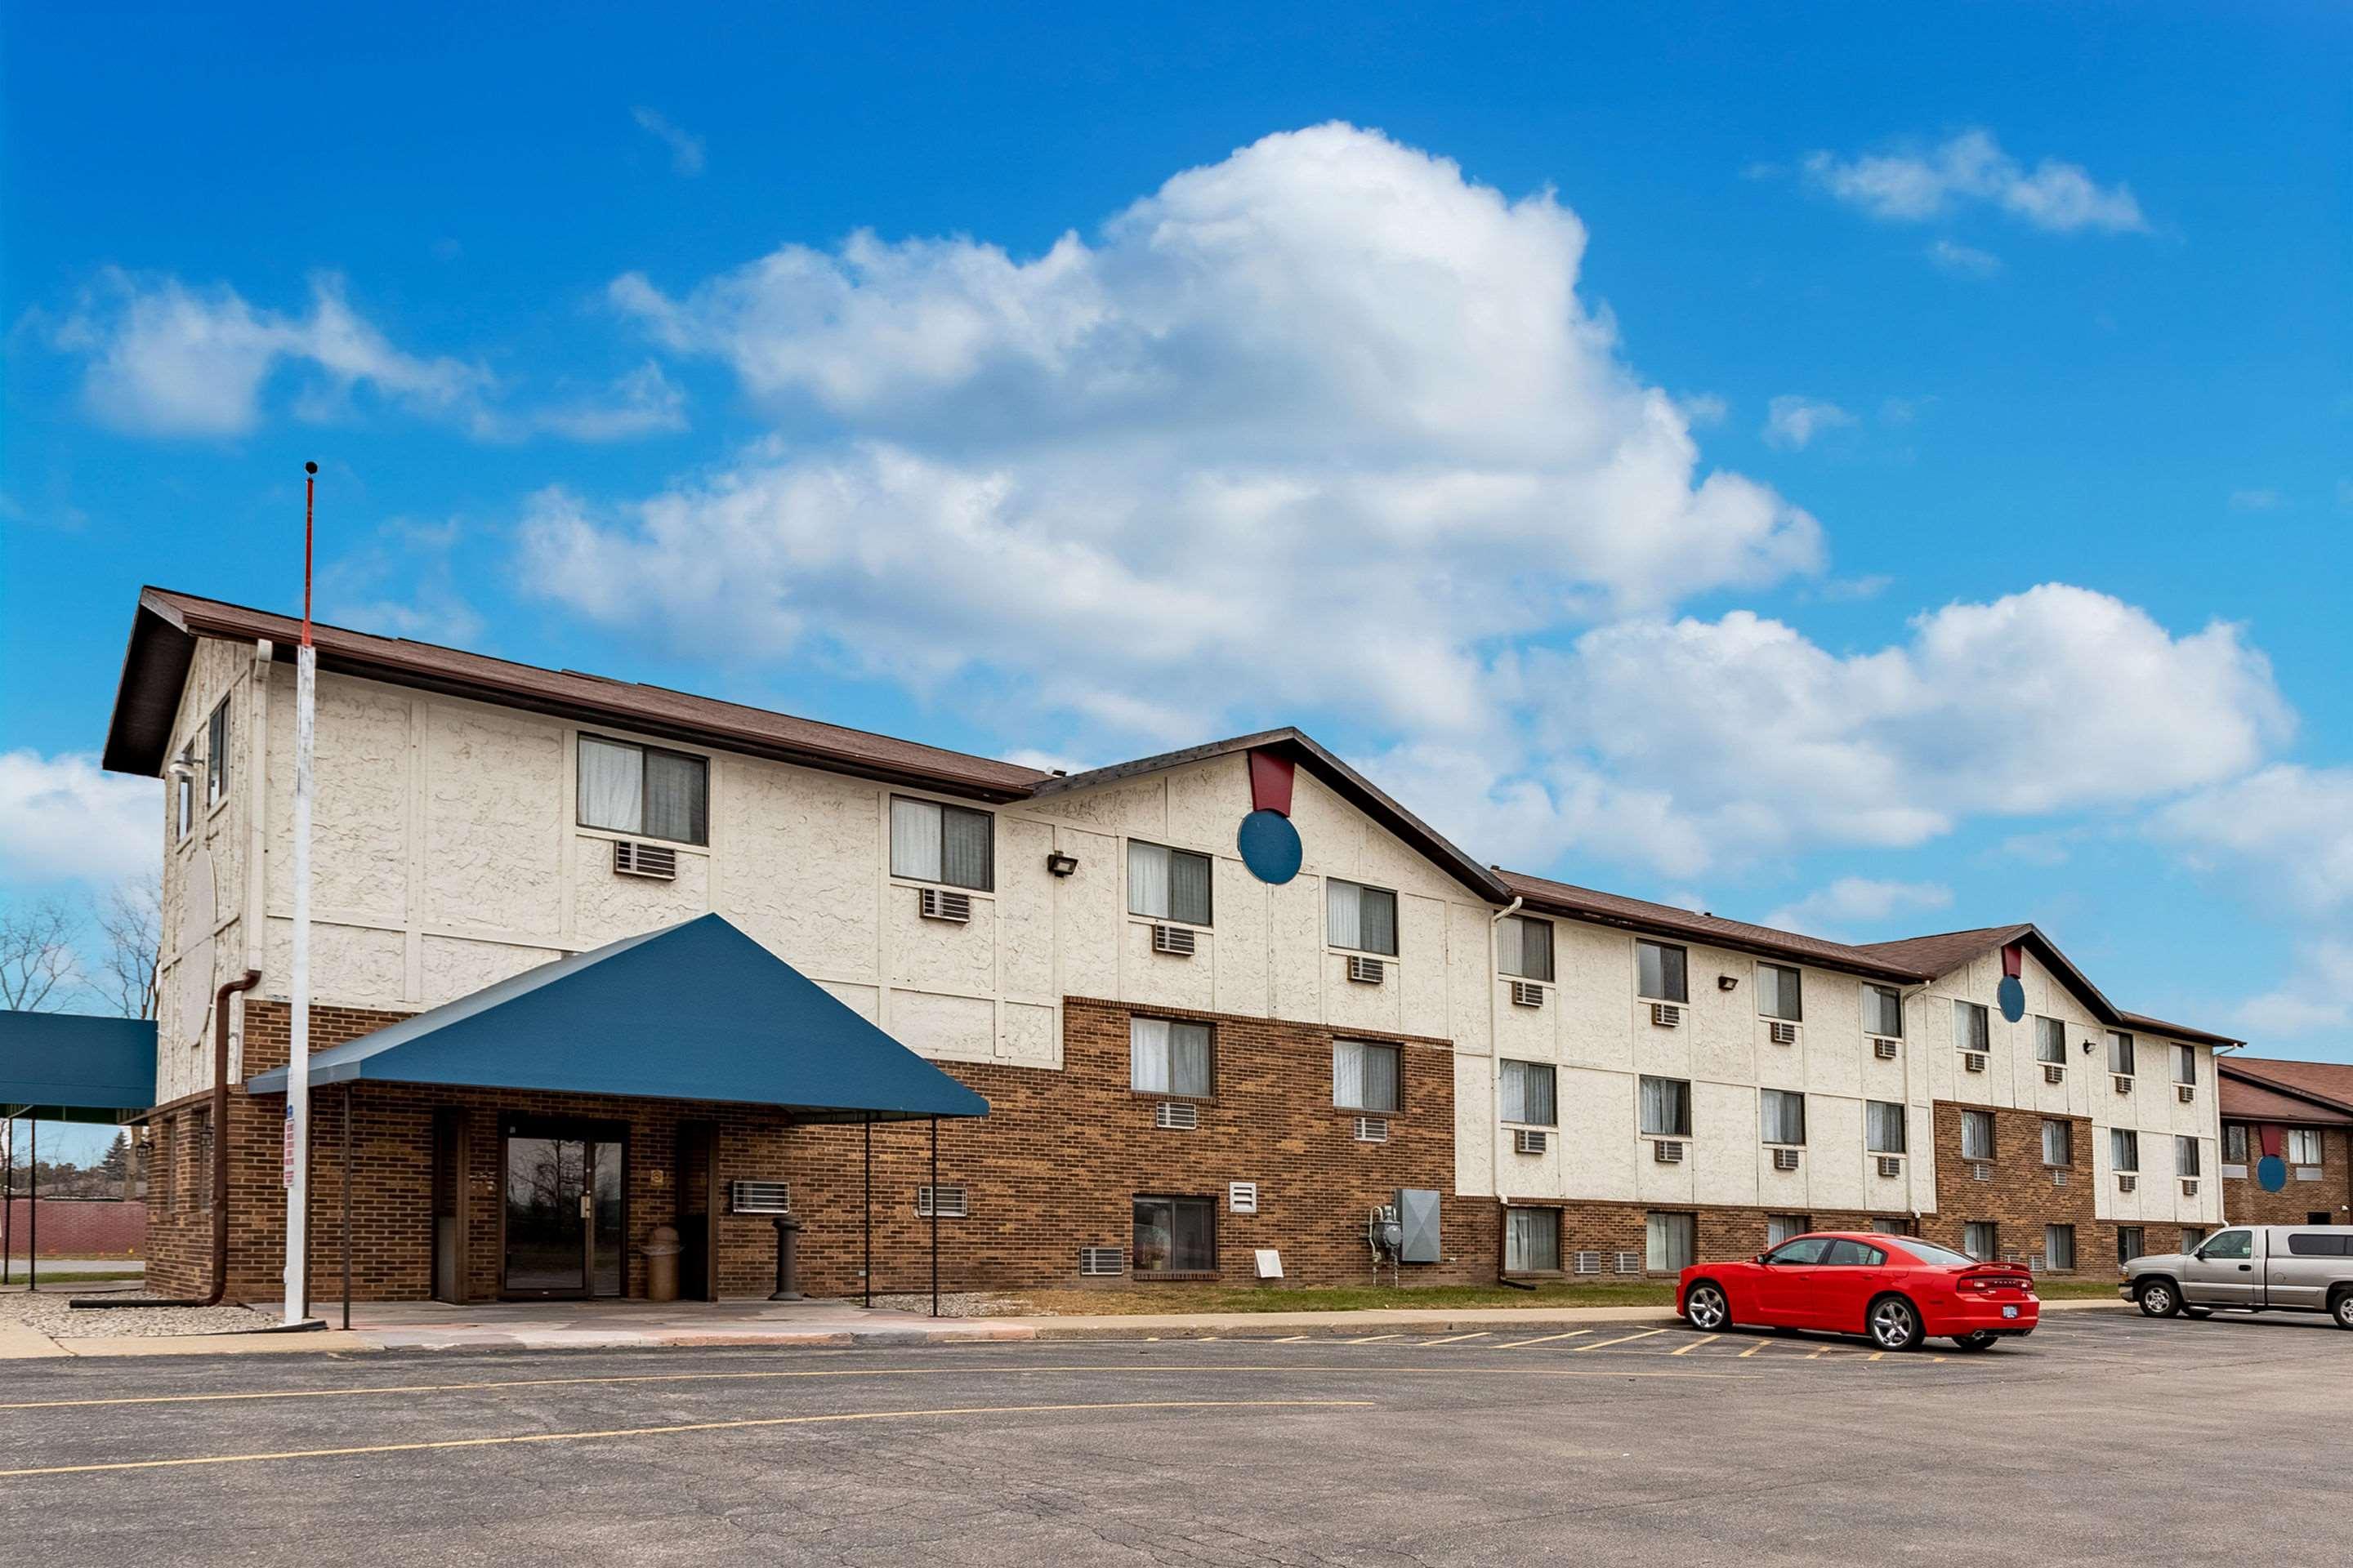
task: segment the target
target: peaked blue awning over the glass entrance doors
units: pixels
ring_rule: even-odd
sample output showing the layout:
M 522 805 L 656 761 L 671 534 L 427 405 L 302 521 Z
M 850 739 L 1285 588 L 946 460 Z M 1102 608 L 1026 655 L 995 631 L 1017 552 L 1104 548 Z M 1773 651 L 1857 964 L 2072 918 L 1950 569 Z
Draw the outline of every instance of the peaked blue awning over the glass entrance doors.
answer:
M 732 1100 L 807 1121 L 988 1114 L 988 1100 L 718 914 L 541 964 L 318 1051 L 311 1081 Z M 245 1084 L 285 1086 L 285 1067 Z

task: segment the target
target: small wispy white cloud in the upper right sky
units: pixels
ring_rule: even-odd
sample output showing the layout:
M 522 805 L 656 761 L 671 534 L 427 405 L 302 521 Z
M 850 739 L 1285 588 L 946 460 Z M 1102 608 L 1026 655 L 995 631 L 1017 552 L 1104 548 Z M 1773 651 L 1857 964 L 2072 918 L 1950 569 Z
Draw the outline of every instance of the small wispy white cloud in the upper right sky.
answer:
M 1805 174 L 1840 202 L 1892 223 L 1925 223 L 1965 202 L 1984 202 L 2054 233 L 2148 230 L 2129 186 L 2101 186 L 2082 165 L 2057 158 L 2026 169 L 1984 129 L 1960 132 L 1932 148 L 1866 158 L 1812 153 Z

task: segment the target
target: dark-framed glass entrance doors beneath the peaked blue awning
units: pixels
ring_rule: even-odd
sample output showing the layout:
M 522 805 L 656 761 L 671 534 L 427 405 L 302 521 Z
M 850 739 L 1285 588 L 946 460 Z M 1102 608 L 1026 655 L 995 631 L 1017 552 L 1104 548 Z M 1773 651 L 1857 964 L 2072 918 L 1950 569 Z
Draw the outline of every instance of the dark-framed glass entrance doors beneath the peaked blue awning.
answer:
M 628 1133 L 602 1121 L 508 1117 L 499 1138 L 504 1295 L 621 1295 Z

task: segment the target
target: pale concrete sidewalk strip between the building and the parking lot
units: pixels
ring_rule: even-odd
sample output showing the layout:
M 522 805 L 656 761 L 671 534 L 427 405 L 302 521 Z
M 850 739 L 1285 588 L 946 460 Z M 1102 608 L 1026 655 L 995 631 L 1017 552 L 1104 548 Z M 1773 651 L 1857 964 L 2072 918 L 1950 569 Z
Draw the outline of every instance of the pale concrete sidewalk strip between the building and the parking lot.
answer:
M 2045 1312 L 2129 1312 L 2122 1300 L 2057 1300 Z M 1002 1340 L 1365 1338 L 1560 1333 L 1595 1324 L 1673 1324 L 1666 1307 L 1487 1307 L 1381 1312 L 1188 1312 L 932 1319 L 854 1302 L 388 1302 L 353 1307 L 351 1331 L 49 1338 L 0 1324 L 0 1361 L 35 1356 L 216 1356 L 367 1349 L 887 1347 Z

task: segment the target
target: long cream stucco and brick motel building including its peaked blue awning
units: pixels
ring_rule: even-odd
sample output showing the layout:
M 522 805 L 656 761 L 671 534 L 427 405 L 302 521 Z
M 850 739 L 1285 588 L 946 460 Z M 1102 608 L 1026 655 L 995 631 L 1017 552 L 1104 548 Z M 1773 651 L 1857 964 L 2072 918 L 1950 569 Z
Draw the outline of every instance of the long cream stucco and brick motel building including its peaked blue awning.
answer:
M 165 780 L 167 1291 L 209 1284 L 216 1018 L 231 1293 L 280 1267 L 296 632 L 146 590 L 106 741 Z M 311 1255 L 348 1140 L 360 1298 L 635 1295 L 656 1225 L 689 1295 L 765 1293 L 736 1182 L 786 1182 L 816 1293 L 920 1288 L 934 1206 L 951 1288 L 1369 1279 L 1400 1192 L 1409 1284 L 1831 1225 L 2092 1269 L 2221 1220 L 2238 1041 L 2031 924 L 1857 947 L 1522 877 L 1289 729 L 1061 776 L 315 644 Z

